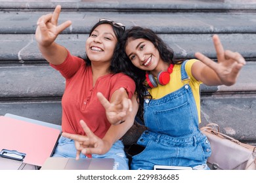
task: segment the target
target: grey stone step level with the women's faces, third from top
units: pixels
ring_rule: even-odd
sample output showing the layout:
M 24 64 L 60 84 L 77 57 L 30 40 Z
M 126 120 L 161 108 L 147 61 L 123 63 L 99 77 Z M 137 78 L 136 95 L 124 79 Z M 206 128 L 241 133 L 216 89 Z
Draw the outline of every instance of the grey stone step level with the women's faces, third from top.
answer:
M 194 58 L 195 52 L 202 52 L 215 59 L 216 53 L 211 34 L 161 34 L 160 37 L 173 48 L 177 58 Z M 75 56 L 85 56 L 85 40 L 88 35 L 59 35 L 56 42 L 62 44 Z M 227 50 L 237 51 L 247 60 L 255 60 L 256 34 L 219 34 L 223 46 Z M 11 49 L 10 49 L 11 48 Z M 37 48 L 35 36 L 0 34 L 0 64 L 37 63 L 44 58 Z M 41 62 L 39 62 L 41 63 Z

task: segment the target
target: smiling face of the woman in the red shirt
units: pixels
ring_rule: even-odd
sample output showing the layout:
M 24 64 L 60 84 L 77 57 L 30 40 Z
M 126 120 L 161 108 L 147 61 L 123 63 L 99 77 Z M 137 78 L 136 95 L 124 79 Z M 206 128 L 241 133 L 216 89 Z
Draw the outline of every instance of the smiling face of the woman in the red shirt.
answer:
M 85 43 L 85 51 L 92 62 L 108 62 L 110 64 L 117 39 L 112 25 L 100 24 L 91 33 Z

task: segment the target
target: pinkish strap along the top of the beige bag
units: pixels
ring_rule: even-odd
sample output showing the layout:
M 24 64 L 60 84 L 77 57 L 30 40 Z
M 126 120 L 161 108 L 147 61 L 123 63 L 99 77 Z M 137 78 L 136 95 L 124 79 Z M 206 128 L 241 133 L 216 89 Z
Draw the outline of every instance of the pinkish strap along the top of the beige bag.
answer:
M 225 139 L 228 139 L 232 142 L 235 142 L 236 144 L 239 144 L 241 146 L 244 146 L 245 148 L 249 148 L 252 150 L 252 152 L 256 153 L 256 146 L 252 146 L 250 144 L 245 144 L 242 143 L 228 135 L 225 135 L 224 133 L 219 132 L 219 125 L 215 124 L 215 123 L 209 123 L 207 125 L 205 125 L 204 127 L 200 128 L 201 131 L 208 131 L 209 133 L 213 134 L 213 135 L 221 135 L 222 137 L 224 137 Z

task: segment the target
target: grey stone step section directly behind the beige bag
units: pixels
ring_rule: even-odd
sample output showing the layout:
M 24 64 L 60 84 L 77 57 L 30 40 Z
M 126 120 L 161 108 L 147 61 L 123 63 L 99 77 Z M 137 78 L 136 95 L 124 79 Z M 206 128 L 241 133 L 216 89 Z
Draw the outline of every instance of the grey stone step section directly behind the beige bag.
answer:
M 242 142 L 256 144 L 255 111 L 255 94 L 202 97 L 200 127 L 216 123 L 222 133 Z

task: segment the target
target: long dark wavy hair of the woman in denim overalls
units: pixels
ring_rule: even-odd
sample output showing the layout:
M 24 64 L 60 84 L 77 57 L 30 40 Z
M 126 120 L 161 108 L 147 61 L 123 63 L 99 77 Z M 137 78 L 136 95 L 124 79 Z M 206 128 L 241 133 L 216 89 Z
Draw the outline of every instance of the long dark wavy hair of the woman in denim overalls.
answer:
M 150 97 L 150 99 L 152 99 L 152 96 L 147 92 L 149 86 L 145 82 L 146 71 L 135 67 L 125 53 L 128 39 L 146 39 L 152 42 L 158 49 L 161 59 L 169 64 L 180 64 L 182 60 L 174 59 L 173 50 L 169 48 L 169 46 L 167 46 L 167 44 L 165 44 L 165 42 L 163 42 L 163 40 L 158 37 L 154 31 L 152 31 L 152 29 L 135 26 L 131 27 L 131 29 L 127 29 L 125 33 L 123 33 L 121 39 L 117 43 L 117 52 L 114 54 L 114 59 L 119 59 L 119 63 L 121 63 L 121 70 L 126 70 L 126 74 L 135 80 L 137 99 L 140 104 L 137 116 L 140 120 L 143 120 L 144 97 Z

